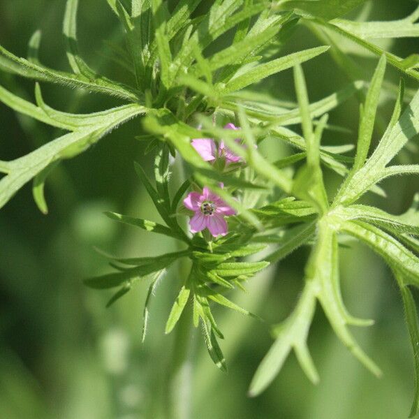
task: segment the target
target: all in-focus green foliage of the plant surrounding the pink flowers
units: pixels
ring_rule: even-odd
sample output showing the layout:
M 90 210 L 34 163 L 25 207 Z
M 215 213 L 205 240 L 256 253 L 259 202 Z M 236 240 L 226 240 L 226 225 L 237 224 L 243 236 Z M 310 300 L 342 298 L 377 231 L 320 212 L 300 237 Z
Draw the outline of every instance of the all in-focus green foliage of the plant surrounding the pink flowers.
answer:
M 155 154 L 154 180 L 149 180 L 135 164 L 140 182 L 152 198 L 164 224 L 109 212 L 116 221 L 166 235 L 179 242 L 179 251 L 156 257 L 110 257 L 117 272 L 86 279 L 91 288 L 119 288 L 108 306 L 122 297 L 139 279 L 150 279 L 145 304 L 143 339 L 147 332 L 149 300 L 154 286 L 177 260 L 189 260 L 189 275 L 166 323 L 171 332 L 191 306 L 193 324 L 202 325 L 208 352 L 217 367 L 226 369 L 218 339 L 223 339 L 212 314 L 212 304 L 220 304 L 242 314 L 257 317 L 226 297 L 232 288 L 289 253 L 309 244 L 311 254 L 305 268 L 305 285 L 295 310 L 272 329 L 274 344 L 260 363 L 250 386 L 251 395 L 265 390 L 291 352 L 308 378 L 318 382 L 318 372 L 309 354 L 307 337 L 319 302 L 332 329 L 351 353 L 376 376 L 381 371 L 362 351 L 348 329 L 367 326 L 372 321 L 351 316 L 344 306 L 339 283 L 339 240 L 350 235 L 383 257 L 395 274 L 402 293 L 406 321 L 413 346 L 416 391 L 411 416 L 419 399 L 418 320 L 410 287 L 419 286 L 418 199 L 404 215 L 395 216 L 358 203 L 365 193 L 385 194 L 378 184 L 394 175 L 417 175 L 418 165 L 390 164 L 419 132 L 419 94 L 404 108 L 404 82 L 399 84 L 394 112 L 372 149 L 374 129 L 387 63 L 402 76 L 419 80 L 418 57 L 406 59 L 385 52 L 370 38 L 418 36 L 418 10 L 394 22 L 352 22 L 342 17 L 365 1 L 243 1 L 217 0 L 206 13 L 198 14 L 200 1 L 180 0 L 173 10 L 161 0 L 108 0 L 126 32 L 124 63 L 135 75 L 135 84 L 126 85 L 98 75 L 80 57 L 76 35 L 78 0 L 68 0 L 64 17 L 68 63 L 72 73 L 55 71 L 41 64 L 40 36 L 31 39 L 31 55 L 16 57 L 0 47 L 0 69 L 38 82 L 54 82 L 64 87 L 87 89 L 115 96 L 126 104 L 89 115 L 75 115 L 50 108 L 36 84 L 36 105 L 0 87 L 0 100 L 10 108 L 40 122 L 70 131 L 13 161 L 0 161 L 0 207 L 27 182 L 34 179 L 34 198 L 47 212 L 43 185 L 50 171 L 63 159 L 84 152 L 105 134 L 128 119 L 141 116 L 147 132 L 140 140 L 149 141 Z M 284 43 L 297 25 L 304 24 L 328 45 L 283 54 Z M 213 52 L 211 46 L 234 32 L 228 46 Z M 378 59 L 371 82 L 358 80 L 354 64 L 335 41 L 344 36 L 364 47 Z M 276 57 L 281 52 L 281 57 Z M 330 52 L 349 75 L 350 84 L 314 103 L 302 66 Z M 349 63 L 349 64 L 348 64 Z M 293 68 L 297 105 L 285 106 L 261 98 L 247 88 L 281 71 Z M 349 97 L 360 98 L 360 125 L 355 156 L 344 154 L 351 145 L 321 144 L 325 130 L 339 132 L 328 124 L 330 110 Z M 221 128 L 234 121 L 239 130 Z M 302 135 L 289 128 L 301 124 Z M 200 128 L 198 128 L 198 126 Z M 214 138 L 240 157 L 241 163 L 227 166 L 203 161 L 191 145 L 193 138 Z M 238 143 L 237 138 L 243 143 Z M 266 138 L 291 145 L 297 153 L 272 162 L 259 147 Z M 170 159 L 182 157 L 190 176 L 177 191 L 170 193 Z M 323 179 L 324 168 L 343 177 L 334 197 Z M 223 183 L 223 186 L 220 185 Z M 230 233 L 213 240 L 191 235 L 182 226 L 182 204 L 186 191 L 207 186 L 237 212 L 228 220 Z M 274 247 L 270 253 L 265 248 Z M 264 251 L 261 253 L 259 252 Z M 248 258 L 248 256 L 253 258 Z

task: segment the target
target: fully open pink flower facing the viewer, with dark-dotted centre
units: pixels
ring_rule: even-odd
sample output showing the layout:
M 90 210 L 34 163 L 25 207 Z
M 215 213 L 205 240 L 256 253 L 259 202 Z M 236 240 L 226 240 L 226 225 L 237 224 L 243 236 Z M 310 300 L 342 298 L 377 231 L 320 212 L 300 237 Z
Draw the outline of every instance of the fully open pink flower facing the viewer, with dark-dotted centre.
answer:
M 214 237 L 228 233 L 224 216 L 234 215 L 235 210 L 206 186 L 202 193 L 189 193 L 184 199 L 184 206 L 195 212 L 191 221 L 189 221 L 191 233 L 198 233 L 205 228 L 208 228 Z

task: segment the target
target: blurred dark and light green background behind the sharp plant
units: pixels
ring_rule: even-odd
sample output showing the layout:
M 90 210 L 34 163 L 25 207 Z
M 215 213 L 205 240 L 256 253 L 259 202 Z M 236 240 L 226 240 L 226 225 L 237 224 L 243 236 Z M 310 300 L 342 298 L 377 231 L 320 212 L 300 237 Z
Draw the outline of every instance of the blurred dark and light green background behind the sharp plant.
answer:
M 129 82 L 130 75 L 106 58 L 103 41 L 122 42 L 122 29 L 104 0 L 80 2 L 82 53 L 96 70 Z M 393 20 L 410 13 L 409 0 L 376 0 L 369 17 Z M 64 0 L 0 0 L 0 43 L 24 56 L 36 29 L 43 32 L 41 60 L 66 69 L 61 20 Z M 307 29 L 291 38 L 286 50 L 316 45 Z M 417 39 L 384 41 L 402 57 L 418 52 Z M 376 58 L 358 50 L 355 59 L 372 74 Z M 304 64 L 311 101 L 347 80 L 330 57 Z M 292 72 L 274 76 L 258 87 L 277 98 L 293 100 Z M 389 70 L 388 80 L 397 82 Z M 0 83 L 33 98 L 34 82 L 0 74 Z M 411 87 L 417 89 L 414 82 Z M 105 96 L 43 85 L 45 101 L 60 110 L 92 112 L 117 105 Z M 383 96 L 388 117 L 391 103 Z M 353 98 L 331 113 L 330 122 L 358 126 Z M 0 104 L 0 157 L 14 159 L 59 135 L 54 130 Z M 152 256 L 176 248 L 163 236 L 116 225 L 102 212 L 115 210 L 158 221 L 145 190 L 133 172 L 133 160 L 149 168 L 146 144 L 134 139 L 138 119 L 119 128 L 78 158 L 61 164 L 46 186 L 50 214 L 43 216 L 26 186 L 0 212 L 0 418 L 140 419 L 160 418 L 162 388 L 170 362 L 172 336 L 164 324 L 179 286 L 177 268 L 164 277 L 151 304 L 149 334 L 141 344 L 142 307 L 147 284 L 140 284 L 110 309 L 110 294 L 85 288 L 82 279 L 109 272 L 94 247 L 121 256 Z M 329 132 L 328 144 L 353 142 L 355 135 Z M 418 141 L 416 140 L 416 146 Z M 272 156 L 286 152 L 268 141 Z M 412 152 L 413 151 L 413 152 Z M 403 163 L 418 162 L 416 150 L 403 152 Z M 337 180 L 328 173 L 331 190 Z M 174 180 L 177 182 L 177 179 Z M 399 214 L 419 190 L 417 178 L 390 179 L 383 184 L 390 198 L 367 201 Z M 240 314 L 216 309 L 226 340 L 221 346 L 229 372 L 219 372 L 208 357 L 199 333 L 193 337 L 196 363 L 191 374 L 193 419 L 370 419 L 405 418 L 413 396 L 413 362 L 397 286 L 384 263 L 366 247 L 341 251 L 344 299 L 353 314 L 374 318 L 376 325 L 354 330 L 355 336 L 381 366 L 380 380 L 367 372 L 330 330 L 320 309 L 309 345 L 321 374 L 311 385 L 293 355 L 273 385 L 260 397 L 247 397 L 258 362 L 272 343 L 268 324 L 291 311 L 302 287 L 308 249 L 300 249 L 279 265 L 250 281 L 249 293 L 235 302 L 267 320 L 258 323 Z M 418 293 L 416 296 L 419 297 Z M 186 396 L 185 396 L 186 397 Z

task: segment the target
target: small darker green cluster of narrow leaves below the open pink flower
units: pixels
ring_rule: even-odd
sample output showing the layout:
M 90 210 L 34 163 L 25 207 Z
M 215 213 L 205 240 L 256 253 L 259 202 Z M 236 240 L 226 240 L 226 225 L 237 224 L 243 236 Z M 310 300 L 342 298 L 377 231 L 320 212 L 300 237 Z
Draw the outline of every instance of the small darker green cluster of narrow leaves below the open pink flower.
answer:
M 203 237 L 196 236 L 191 239 L 184 233 L 177 221 L 177 207 L 179 200 L 189 188 L 189 181 L 179 187 L 173 198 L 170 197 L 168 187 L 170 178 L 169 148 L 167 145 L 159 145 L 156 152 L 154 160 L 156 186 L 153 186 L 140 165 L 135 164 L 135 170 L 166 225 L 115 212 L 108 212 L 106 215 L 115 221 L 175 238 L 185 244 L 186 249 L 155 257 L 116 258 L 108 256 L 112 260 L 110 264 L 119 272 L 86 279 L 84 284 L 96 289 L 119 287 L 115 295 L 110 298 L 107 304 L 109 307 L 130 291 L 136 282 L 151 277 L 149 293 L 145 302 L 143 327 L 143 339 L 145 339 L 149 302 L 154 295 L 154 289 L 159 279 L 176 260 L 189 258 L 191 260 L 190 274 L 184 279 L 179 295 L 177 295 L 170 311 L 166 323 L 166 333 L 170 333 L 175 328 L 186 304 L 192 304 L 193 323 L 196 327 L 202 323 L 201 330 L 212 360 L 217 367 L 226 370 L 226 360 L 217 341 L 217 338 L 223 339 L 223 334 L 216 324 L 210 303 L 215 302 L 241 314 L 254 316 L 230 301 L 225 293 L 236 287 L 244 290 L 244 282 L 269 265 L 265 261 L 242 260 L 245 256 L 260 252 L 265 248 L 265 245 L 250 243 L 251 237 L 246 234 L 230 233 L 215 242 L 207 242 Z

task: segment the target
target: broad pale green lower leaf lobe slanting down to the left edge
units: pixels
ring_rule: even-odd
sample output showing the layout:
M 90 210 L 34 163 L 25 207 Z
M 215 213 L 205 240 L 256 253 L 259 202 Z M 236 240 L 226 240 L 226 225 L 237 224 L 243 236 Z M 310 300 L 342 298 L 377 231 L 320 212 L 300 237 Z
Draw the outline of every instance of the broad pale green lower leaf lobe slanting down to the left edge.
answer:
M 119 124 L 144 112 L 145 108 L 139 105 L 128 105 L 115 109 L 112 115 L 102 120 L 101 124 L 68 133 L 26 156 L 8 161 L 8 174 L 0 179 L 0 207 L 3 207 L 24 184 L 54 161 L 77 156 Z

